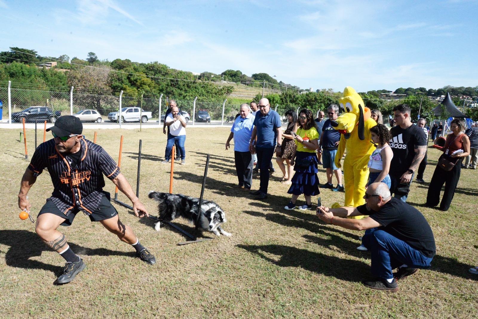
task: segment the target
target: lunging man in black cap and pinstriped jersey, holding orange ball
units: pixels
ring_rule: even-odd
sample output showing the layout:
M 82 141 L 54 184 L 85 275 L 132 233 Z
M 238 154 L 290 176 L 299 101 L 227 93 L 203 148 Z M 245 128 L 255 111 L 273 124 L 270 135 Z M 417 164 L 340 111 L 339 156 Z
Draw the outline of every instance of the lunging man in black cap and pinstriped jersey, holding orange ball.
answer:
M 66 284 L 85 269 L 83 260 L 73 252 L 65 235 L 57 230 L 60 225 L 71 225 L 79 212 L 88 215 L 92 222 L 102 223 L 121 241 L 132 245 L 142 261 L 155 264 L 156 259 L 140 244 L 132 229 L 120 222 L 118 212 L 110 203 L 109 193 L 103 191 L 105 174 L 128 196 L 136 216 L 149 216 L 115 161 L 101 146 L 83 138 L 83 125 L 78 117 L 59 117 L 47 131 L 52 131 L 54 138 L 35 150 L 22 177 L 18 206 L 27 212 L 30 210 L 32 205 L 27 193 L 37 176 L 47 168 L 54 191 L 38 213 L 35 231 L 46 245 L 66 260 L 63 275 L 54 284 Z

